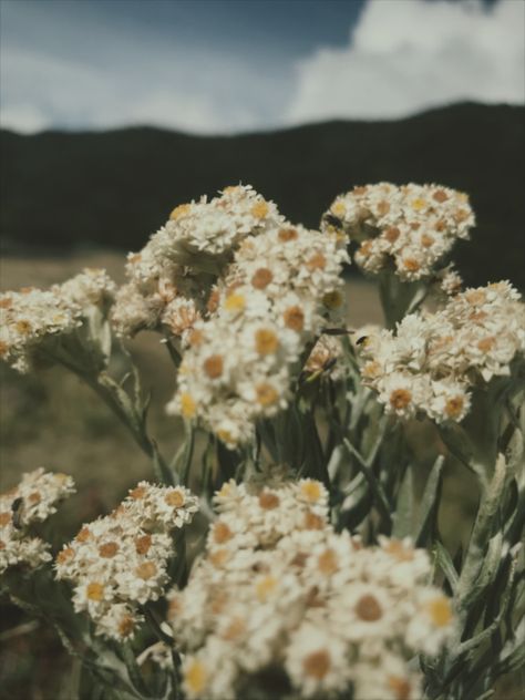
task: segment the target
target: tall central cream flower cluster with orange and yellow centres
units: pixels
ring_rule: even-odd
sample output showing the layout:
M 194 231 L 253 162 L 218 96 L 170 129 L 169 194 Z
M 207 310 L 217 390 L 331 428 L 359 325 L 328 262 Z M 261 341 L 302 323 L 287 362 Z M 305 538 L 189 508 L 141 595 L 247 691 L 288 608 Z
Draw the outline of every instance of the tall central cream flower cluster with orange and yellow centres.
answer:
M 168 411 L 199 419 L 227 445 L 287 405 L 299 360 L 342 308 L 347 253 L 333 234 L 289 224 L 248 236 L 188 336 Z

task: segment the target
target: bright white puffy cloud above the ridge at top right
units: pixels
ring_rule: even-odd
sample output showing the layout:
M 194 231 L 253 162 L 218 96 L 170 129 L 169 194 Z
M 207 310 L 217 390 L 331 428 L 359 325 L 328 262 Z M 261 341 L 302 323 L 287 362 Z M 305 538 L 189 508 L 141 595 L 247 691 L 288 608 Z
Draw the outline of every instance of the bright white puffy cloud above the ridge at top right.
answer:
M 288 123 L 395 119 L 461 100 L 525 101 L 525 3 L 369 0 L 349 45 L 297 65 Z

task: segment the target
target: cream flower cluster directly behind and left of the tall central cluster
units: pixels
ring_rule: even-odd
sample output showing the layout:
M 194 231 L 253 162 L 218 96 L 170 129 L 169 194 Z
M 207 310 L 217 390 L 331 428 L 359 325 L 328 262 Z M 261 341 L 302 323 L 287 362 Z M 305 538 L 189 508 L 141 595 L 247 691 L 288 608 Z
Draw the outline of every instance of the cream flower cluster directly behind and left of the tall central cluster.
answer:
M 182 204 L 147 245 L 127 258 L 128 284 L 117 294 L 113 322 L 123 336 L 159 329 L 188 331 L 206 309 L 217 276 L 248 235 L 282 220 L 276 205 L 250 186 L 226 187 L 210 202 Z

